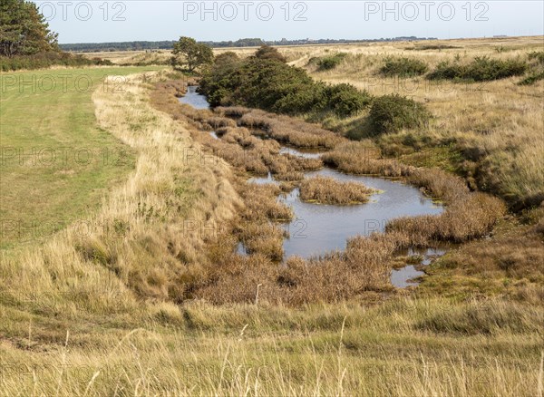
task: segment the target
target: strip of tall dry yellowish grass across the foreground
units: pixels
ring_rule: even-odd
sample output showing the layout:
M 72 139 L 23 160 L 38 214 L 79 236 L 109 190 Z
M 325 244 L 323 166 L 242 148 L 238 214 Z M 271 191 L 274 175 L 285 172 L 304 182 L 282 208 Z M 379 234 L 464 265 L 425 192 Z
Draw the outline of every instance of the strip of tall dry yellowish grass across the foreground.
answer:
M 542 392 L 543 315 L 443 299 L 302 311 L 157 306 L 155 316 L 126 327 L 72 330 L 48 353 L 4 340 L 1 356 L 11 367 L 0 388 L 8 395 L 529 397 Z

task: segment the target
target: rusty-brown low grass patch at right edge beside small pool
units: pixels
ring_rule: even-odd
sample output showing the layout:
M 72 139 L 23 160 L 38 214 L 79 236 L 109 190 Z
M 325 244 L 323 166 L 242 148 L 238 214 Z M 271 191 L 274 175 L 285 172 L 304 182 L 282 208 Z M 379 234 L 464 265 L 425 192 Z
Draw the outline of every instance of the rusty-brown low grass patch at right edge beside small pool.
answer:
M 484 295 L 539 305 L 544 299 L 542 211 L 533 211 L 537 219 L 529 225 L 501 222 L 492 238 L 473 241 L 442 258 L 428 269 L 431 277 L 423 280 L 418 293 L 465 295 L 477 288 Z

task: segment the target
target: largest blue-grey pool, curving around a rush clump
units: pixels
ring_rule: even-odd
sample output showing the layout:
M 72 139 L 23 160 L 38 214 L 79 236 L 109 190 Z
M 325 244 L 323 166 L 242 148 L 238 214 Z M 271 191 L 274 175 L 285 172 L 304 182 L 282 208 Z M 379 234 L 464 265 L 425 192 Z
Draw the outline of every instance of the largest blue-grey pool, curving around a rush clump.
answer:
M 370 201 L 354 206 L 319 205 L 299 199 L 298 189 L 280 200 L 292 207 L 296 218 L 287 225 L 289 238 L 284 242 L 286 256 L 316 257 L 333 250 L 344 250 L 346 240 L 357 235 L 368 236 L 384 231 L 386 223 L 405 216 L 437 215 L 443 210 L 419 189 L 401 182 L 356 175 L 347 175 L 334 169 L 308 172 L 306 178 L 316 175 L 340 181 L 355 181 L 380 193 Z

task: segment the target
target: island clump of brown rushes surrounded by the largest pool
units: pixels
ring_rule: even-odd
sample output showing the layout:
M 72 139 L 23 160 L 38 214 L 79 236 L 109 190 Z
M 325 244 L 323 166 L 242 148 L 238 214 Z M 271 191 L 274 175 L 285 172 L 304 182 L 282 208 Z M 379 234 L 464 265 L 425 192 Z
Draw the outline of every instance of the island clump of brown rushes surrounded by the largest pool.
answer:
M 374 189 L 362 183 L 339 182 L 328 177 L 305 179 L 300 184 L 300 199 L 317 204 L 363 204 L 373 193 Z

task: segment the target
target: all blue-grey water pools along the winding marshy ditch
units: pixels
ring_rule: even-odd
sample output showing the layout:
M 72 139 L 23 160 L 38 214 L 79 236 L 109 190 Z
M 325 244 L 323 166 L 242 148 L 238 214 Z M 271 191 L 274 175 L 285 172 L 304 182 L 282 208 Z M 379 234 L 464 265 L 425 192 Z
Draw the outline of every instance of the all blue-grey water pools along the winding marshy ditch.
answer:
M 206 97 L 196 92 L 197 87 L 191 86 L 180 102 L 189 104 L 197 109 L 208 109 Z M 207 132 L 209 133 L 209 132 Z M 212 136 L 215 133 L 212 132 Z M 219 139 L 217 135 L 214 138 Z M 300 150 L 282 147 L 281 153 L 318 158 L 323 151 Z M 372 195 L 367 203 L 353 206 L 336 206 L 306 203 L 299 199 L 298 189 L 278 199 L 293 208 L 294 219 L 285 225 L 288 238 L 284 240 L 285 257 L 319 257 L 335 250 L 344 250 L 347 239 L 357 235 L 368 236 L 373 232 L 384 231 L 389 220 L 399 217 L 414 217 L 418 215 L 438 215 L 443 208 L 423 196 L 419 189 L 405 185 L 402 182 L 379 177 L 350 175 L 335 169 L 324 168 L 306 173 L 306 178 L 317 175 L 330 177 L 339 181 L 355 181 L 373 188 L 378 193 Z M 249 183 L 277 183 L 273 175 L 263 178 L 251 178 Z M 238 253 L 247 254 L 242 244 L 238 245 Z M 445 253 L 441 248 L 430 248 L 423 251 L 407 250 L 403 255 L 420 257 L 421 265 L 425 266 L 436 257 Z M 416 266 L 417 267 L 417 266 Z M 413 265 L 393 270 L 391 282 L 400 288 L 410 286 L 410 280 L 423 276 L 423 272 Z

